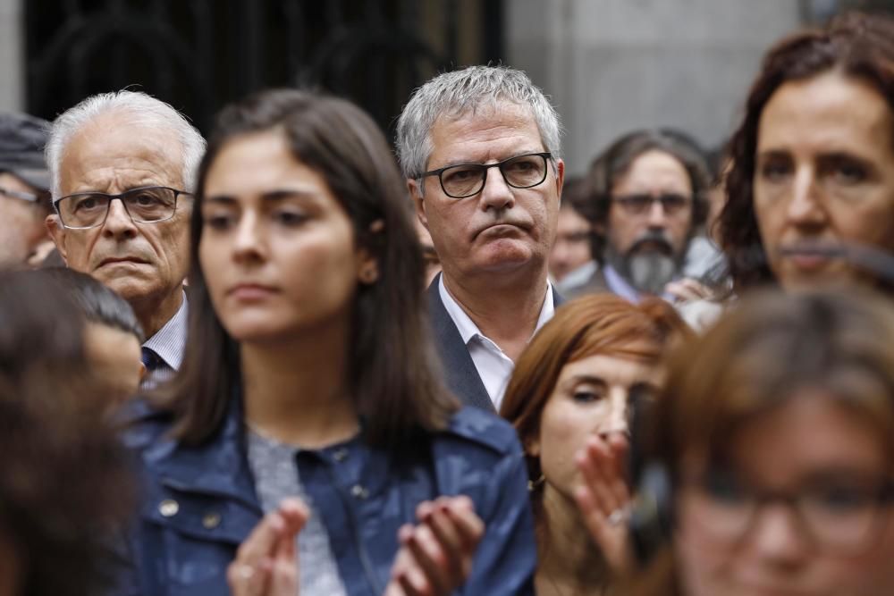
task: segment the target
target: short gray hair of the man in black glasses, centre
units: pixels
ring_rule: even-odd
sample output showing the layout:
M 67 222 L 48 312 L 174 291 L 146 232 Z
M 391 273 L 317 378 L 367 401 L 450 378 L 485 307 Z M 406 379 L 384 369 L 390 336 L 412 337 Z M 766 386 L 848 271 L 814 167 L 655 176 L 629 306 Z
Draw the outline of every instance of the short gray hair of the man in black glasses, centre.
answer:
M 561 158 L 561 122 L 544 92 L 523 71 L 508 66 L 469 66 L 444 72 L 413 93 L 397 122 L 397 153 L 406 178 L 426 171 L 432 155 L 431 130 L 442 116 L 474 113 L 482 105 L 502 102 L 531 109 L 540 139 L 552 152 L 553 164 Z

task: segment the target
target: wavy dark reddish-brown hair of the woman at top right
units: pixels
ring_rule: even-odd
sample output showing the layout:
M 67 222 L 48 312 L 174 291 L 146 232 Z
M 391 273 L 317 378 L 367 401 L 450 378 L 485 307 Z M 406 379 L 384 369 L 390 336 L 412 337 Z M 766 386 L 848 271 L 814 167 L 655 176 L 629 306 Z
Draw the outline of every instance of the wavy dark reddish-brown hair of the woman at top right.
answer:
M 877 14 L 843 13 L 825 29 L 806 29 L 782 39 L 764 56 L 748 94 L 745 116 L 730 140 L 728 200 L 718 219 L 721 248 L 738 292 L 775 285 L 757 228 L 753 189 L 763 108 L 785 83 L 831 70 L 868 83 L 894 111 L 894 20 Z M 894 143 L 894 130 L 891 139 Z

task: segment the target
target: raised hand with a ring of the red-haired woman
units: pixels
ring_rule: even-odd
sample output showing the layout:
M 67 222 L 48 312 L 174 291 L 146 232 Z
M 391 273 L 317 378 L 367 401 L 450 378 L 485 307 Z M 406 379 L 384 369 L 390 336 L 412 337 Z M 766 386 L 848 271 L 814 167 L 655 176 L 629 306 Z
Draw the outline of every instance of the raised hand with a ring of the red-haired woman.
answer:
M 576 457 L 584 483 L 575 491 L 584 524 L 611 570 L 619 575 L 633 567 L 628 534 L 630 491 L 624 479 L 628 441 L 619 433 L 590 437 Z

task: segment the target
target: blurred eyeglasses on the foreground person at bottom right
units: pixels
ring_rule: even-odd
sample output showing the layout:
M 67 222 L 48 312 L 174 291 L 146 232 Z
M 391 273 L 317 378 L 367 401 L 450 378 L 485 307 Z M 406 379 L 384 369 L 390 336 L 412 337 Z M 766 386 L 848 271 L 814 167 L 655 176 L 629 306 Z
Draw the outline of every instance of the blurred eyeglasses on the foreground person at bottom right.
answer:
M 840 480 L 800 491 L 763 491 L 740 484 L 734 474 L 713 472 L 684 483 L 692 516 L 715 540 L 738 543 L 770 505 L 783 505 L 814 546 L 856 555 L 872 549 L 885 516 L 894 510 L 894 483 Z M 685 502 L 685 499 L 684 499 Z

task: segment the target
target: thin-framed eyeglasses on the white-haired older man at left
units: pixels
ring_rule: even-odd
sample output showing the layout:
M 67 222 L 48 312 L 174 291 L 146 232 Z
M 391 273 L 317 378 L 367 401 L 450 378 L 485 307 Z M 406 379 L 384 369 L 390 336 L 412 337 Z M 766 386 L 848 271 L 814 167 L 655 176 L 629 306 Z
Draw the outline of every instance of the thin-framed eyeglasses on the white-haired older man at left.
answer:
M 53 203 L 63 226 L 72 230 L 88 230 L 105 223 L 112 201 L 119 199 L 124 211 L 134 223 L 158 223 L 177 213 L 177 199 L 191 196 L 185 190 L 165 186 L 146 186 L 130 189 L 120 195 L 105 192 L 79 192 L 58 198 Z

